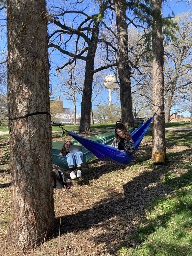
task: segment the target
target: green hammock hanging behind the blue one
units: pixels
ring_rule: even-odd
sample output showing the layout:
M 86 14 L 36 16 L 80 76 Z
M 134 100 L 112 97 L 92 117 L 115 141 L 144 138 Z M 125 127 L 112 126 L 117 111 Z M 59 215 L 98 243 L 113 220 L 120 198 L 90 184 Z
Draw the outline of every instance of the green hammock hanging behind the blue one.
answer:
M 133 127 L 128 128 L 127 131 L 130 131 L 131 129 L 133 129 Z M 92 141 L 97 141 L 105 145 L 111 145 L 114 138 L 115 138 L 114 132 L 109 132 L 109 133 L 94 135 L 87 139 Z M 81 145 L 76 140 L 73 140 L 71 142 L 73 145 Z M 69 169 L 67 165 L 67 157 L 59 156 L 59 153 L 61 152 L 64 143 L 65 141 L 52 142 L 52 159 L 53 159 L 53 164 L 64 169 Z M 91 153 L 85 147 L 82 147 L 82 153 L 83 153 L 83 164 L 85 164 L 87 161 L 89 161 L 91 158 L 94 157 L 94 154 Z

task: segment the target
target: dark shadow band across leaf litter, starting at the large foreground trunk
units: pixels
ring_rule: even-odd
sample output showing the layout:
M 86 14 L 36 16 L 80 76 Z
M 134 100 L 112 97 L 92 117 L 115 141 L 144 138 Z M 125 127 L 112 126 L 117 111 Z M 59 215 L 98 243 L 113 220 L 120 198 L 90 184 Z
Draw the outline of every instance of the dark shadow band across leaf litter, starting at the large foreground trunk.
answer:
M 167 171 L 166 167 L 162 168 L 161 174 Z M 159 183 L 161 174 L 159 168 L 146 171 L 123 185 L 124 194 L 111 192 L 109 197 L 96 202 L 93 208 L 61 216 L 60 235 L 85 231 L 92 226 L 97 226 L 105 230 L 105 235 L 101 232 L 99 236 L 102 236 L 102 239 L 106 239 L 107 236 L 107 240 L 110 240 L 115 235 L 114 229 L 117 229 L 116 223 L 118 223 L 121 229 L 118 238 L 119 246 L 122 246 L 125 236 L 136 229 L 137 221 L 135 220 L 143 214 L 147 204 L 154 201 L 155 197 L 168 193 L 169 186 Z M 153 183 L 158 184 L 151 186 Z M 57 218 L 56 222 L 55 237 L 59 235 L 60 218 Z M 130 227 L 130 230 L 122 227 Z M 95 237 L 95 242 L 100 240 L 99 236 Z

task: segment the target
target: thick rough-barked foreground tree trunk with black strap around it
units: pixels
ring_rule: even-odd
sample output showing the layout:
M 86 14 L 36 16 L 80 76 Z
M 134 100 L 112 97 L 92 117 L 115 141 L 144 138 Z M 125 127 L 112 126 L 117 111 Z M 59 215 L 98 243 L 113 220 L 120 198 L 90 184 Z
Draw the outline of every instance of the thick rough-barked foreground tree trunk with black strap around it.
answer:
M 45 0 L 7 0 L 8 112 L 13 207 L 7 242 L 34 247 L 53 230 L 53 178 Z M 16 119 L 18 118 L 18 119 Z

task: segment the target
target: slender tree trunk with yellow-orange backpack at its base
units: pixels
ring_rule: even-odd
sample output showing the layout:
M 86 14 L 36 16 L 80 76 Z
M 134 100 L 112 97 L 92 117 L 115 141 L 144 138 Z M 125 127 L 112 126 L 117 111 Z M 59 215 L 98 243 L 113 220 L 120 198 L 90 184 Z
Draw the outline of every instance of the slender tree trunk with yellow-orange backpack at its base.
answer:
M 162 1 L 152 0 L 152 80 L 153 80 L 153 148 L 165 151 L 165 115 L 164 115 L 164 74 L 163 74 L 163 37 L 162 37 Z

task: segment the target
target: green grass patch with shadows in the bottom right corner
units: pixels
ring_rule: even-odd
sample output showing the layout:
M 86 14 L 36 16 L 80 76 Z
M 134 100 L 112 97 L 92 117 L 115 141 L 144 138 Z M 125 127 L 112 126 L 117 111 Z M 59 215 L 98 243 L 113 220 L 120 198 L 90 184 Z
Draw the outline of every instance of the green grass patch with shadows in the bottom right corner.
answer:
M 181 177 L 166 173 L 162 182 L 172 186 L 171 196 L 159 197 L 148 207 L 147 219 L 127 237 L 135 247 L 122 247 L 119 255 L 192 255 L 192 169 Z

